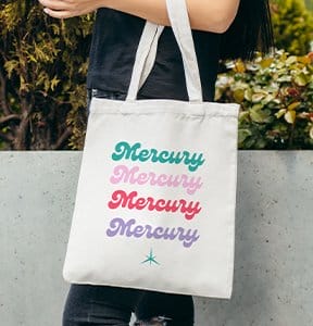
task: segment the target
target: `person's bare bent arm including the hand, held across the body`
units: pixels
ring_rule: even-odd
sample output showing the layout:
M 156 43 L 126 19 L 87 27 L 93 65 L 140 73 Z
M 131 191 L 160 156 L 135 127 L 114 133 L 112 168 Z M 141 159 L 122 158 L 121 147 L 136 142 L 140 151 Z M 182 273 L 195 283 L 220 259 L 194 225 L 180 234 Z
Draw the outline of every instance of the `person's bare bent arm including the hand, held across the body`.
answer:
M 224 33 L 233 23 L 240 0 L 186 0 L 192 29 Z M 111 8 L 168 26 L 165 0 L 39 0 L 45 12 L 67 18 Z

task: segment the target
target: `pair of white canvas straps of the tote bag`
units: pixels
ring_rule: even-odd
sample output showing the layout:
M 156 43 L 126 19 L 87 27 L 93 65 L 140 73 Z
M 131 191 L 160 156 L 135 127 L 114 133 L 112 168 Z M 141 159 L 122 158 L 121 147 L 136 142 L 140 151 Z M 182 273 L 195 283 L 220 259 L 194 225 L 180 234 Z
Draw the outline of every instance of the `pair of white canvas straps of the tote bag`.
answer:
M 179 47 L 185 71 L 189 101 L 201 102 L 202 89 L 189 24 L 186 0 L 166 0 L 166 8 L 172 29 Z M 146 22 L 137 53 L 126 101 L 136 100 L 140 87 L 146 82 L 156 57 L 158 40 L 163 26 Z

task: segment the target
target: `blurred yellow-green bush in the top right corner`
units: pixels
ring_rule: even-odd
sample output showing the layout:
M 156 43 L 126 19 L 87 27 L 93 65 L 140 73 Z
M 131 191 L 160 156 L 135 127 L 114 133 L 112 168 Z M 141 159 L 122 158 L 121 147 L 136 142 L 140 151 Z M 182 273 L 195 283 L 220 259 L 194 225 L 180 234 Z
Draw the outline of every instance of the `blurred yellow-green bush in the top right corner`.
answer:
M 272 0 L 272 20 L 278 49 L 303 55 L 313 41 L 313 14 L 304 0 Z

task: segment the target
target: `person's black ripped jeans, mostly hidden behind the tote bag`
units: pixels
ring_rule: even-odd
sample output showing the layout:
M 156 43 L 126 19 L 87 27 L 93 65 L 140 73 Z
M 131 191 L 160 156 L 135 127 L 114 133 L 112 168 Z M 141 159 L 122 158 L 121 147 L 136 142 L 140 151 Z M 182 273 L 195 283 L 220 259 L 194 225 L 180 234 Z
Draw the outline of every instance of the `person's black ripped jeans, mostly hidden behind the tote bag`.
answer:
M 92 96 L 125 100 L 124 93 L 89 90 L 87 112 Z M 164 316 L 171 318 L 168 326 L 193 325 L 191 296 L 77 284 L 72 284 L 67 293 L 62 325 L 128 326 L 132 312 L 141 321 Z

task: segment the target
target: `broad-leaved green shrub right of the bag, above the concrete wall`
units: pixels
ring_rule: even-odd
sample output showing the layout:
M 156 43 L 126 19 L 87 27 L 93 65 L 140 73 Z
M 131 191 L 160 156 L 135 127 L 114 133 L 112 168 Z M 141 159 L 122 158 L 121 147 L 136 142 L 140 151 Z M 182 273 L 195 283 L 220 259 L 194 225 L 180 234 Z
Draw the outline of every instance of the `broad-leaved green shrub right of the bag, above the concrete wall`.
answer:
M 216 100 L 241 104 L 240 149 L 313 149 L 313 53 L 280 50 L 252 63 L 230 62 Z

